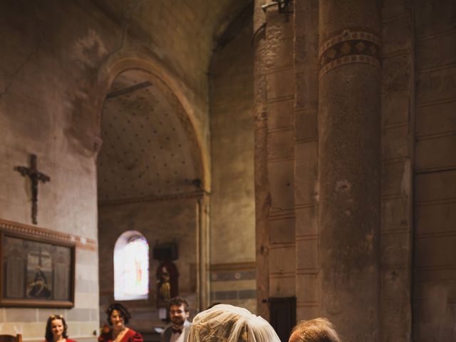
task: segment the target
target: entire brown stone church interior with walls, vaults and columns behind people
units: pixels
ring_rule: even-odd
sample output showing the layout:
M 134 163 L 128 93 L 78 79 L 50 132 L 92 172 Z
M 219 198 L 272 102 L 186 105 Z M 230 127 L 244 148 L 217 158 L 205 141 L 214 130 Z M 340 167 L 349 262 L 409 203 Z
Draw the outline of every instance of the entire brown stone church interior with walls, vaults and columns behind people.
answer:
M 454 340 L 455 1 L 264 4 L 0 1 L 0 229 L 78 242 L 75 306 L 0 307 L 0 333 L 94 341 L 135 229 L 177 240 L 195 309 L 296 296 L 346 341 Z

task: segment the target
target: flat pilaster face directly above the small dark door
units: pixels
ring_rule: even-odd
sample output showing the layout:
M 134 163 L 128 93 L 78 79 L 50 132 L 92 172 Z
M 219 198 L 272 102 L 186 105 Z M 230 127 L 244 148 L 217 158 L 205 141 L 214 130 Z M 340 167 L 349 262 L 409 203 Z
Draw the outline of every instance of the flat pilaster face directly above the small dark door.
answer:
M 269 296 L 296 295 L 294 217 L 294 20 L 266 11 L 267 167 L 271 204 Z M 291 119 L 291 120 L 290 120 Z

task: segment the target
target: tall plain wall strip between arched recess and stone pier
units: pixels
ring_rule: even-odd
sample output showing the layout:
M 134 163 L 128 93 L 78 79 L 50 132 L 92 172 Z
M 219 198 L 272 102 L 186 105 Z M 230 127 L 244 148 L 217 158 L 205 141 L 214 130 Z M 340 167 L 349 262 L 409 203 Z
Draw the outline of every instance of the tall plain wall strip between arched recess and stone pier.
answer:
M 211 302 L 255 312 L 252 6 L 224 31 L 209 75 Z

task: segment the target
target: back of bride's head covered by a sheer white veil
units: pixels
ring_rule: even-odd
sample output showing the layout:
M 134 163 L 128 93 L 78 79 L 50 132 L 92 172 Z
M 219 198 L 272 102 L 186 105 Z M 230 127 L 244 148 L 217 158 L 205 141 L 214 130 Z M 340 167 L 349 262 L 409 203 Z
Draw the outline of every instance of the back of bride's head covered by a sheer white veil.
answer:
M 249 310 L 218 304 L 193 318 L 187 342 L 280 342 L 274 328 Z

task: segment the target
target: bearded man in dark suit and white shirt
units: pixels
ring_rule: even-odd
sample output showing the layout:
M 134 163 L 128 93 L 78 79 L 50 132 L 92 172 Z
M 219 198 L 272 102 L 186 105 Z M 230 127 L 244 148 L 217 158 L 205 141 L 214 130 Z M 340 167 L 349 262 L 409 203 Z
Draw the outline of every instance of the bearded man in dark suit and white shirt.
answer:
M 175 297 L 168 304 L 171 325 L 165 328 L 162 333 L 161 342 L 185 342 L 192 323 L 187 321 L 190 314 L 189 305 L 186 299 Z

